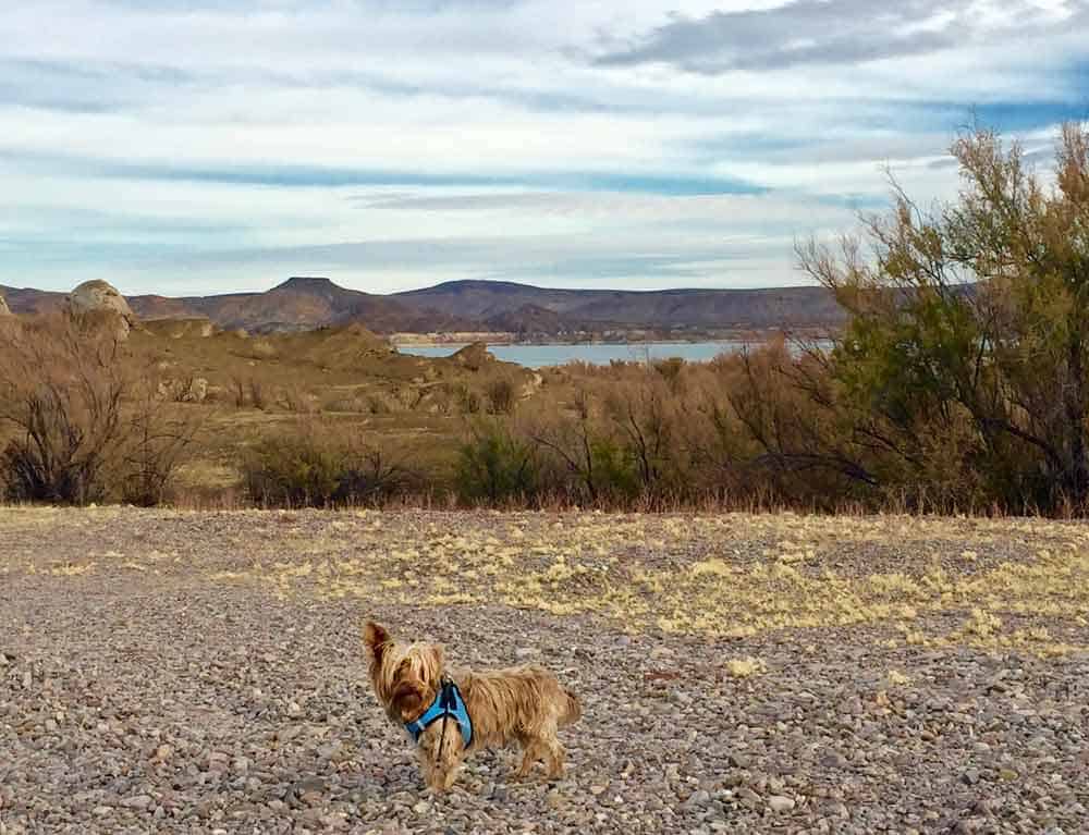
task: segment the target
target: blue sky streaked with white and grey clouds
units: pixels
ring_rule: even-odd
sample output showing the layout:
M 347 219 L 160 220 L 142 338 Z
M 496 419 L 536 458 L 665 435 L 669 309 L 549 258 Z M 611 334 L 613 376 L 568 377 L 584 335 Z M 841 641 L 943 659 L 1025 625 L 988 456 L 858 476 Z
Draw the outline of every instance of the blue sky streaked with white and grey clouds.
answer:
M 806 283 L 796 241 L 1045 164 L 1089 0 L 34 0 L 0 15 L 0 284 Z

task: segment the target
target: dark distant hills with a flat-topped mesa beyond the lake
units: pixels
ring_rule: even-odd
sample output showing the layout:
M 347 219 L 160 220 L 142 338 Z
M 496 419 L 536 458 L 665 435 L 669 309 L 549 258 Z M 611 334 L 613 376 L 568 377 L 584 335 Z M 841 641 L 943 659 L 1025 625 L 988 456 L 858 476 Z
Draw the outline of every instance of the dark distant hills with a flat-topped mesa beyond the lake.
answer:
M 14 312 L 42 312 L 65 294 L 0 287 Z M 378 295 L 329 279 L 293 278 L 264 293 L 171 298 L 130 296 L 142 319 L 207 317 L 221 328 L 297 331 L 357 322 L 377 333 L 503 331 L 743 331 L 833 328 L 843 310 L 823 287 L 774 290 L 550 290 L 501 281 L 453 281 Z

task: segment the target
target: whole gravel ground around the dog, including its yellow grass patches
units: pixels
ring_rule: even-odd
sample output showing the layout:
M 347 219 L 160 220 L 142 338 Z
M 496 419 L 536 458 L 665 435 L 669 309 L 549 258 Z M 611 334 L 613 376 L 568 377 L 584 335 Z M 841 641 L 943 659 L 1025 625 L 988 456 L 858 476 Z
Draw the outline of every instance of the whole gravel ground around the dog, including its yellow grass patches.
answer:
M 1089 530 L 0 509 L 0 833 L 1089 831 Z M 423 788 L 359 627 L 578 691 Z

